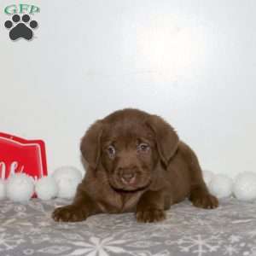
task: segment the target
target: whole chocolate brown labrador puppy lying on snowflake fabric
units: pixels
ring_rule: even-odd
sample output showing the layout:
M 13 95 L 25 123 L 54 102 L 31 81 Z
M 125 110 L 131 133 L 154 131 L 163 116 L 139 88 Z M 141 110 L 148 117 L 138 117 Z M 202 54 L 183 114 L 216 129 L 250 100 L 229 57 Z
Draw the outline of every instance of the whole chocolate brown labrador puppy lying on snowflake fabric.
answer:
M 157 115 L 130 108 L 116 111 L 90 126 L 80 149 L 87 172 L 73 203 L 53 212 L 55 221 L 136 212 L 137 221 L 156 222 L 186 197 L 195 207 L 218 207 L 195 153 Z

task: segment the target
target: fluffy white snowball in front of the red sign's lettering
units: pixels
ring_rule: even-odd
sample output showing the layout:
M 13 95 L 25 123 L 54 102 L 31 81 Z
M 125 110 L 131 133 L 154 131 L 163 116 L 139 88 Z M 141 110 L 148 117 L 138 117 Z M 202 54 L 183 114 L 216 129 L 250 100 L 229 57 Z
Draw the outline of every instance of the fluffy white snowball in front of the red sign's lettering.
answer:
M 25 173 L 15 173 L 6 183 L 6 194 L 12 201 L 29 201 L 34 193 L 32 177 Z

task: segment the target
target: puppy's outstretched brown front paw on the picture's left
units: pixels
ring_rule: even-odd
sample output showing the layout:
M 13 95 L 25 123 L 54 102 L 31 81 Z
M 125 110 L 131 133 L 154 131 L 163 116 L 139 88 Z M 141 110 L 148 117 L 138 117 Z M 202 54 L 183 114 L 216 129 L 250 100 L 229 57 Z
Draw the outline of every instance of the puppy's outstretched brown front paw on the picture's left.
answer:
M 86 212 L 84 208 L 69 205 L 66 207 L 56 208 L 55 211 L 52 213 L 52 218 L 55 221 L 77 222 L 85 220 L 88 215 L 88 212 Z

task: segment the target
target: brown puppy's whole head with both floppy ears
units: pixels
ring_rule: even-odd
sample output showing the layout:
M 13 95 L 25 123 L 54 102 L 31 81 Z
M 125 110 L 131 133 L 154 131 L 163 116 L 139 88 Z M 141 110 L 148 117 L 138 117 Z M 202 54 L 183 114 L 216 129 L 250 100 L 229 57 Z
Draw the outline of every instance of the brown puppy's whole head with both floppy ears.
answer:
M 160 117 L 125 109 L 91 125 L 80 149 L 90 167 L 103 166 L 113 189 L 134 191 L 153 181 L 159 161 L 168 165 L 177 143 L 176 132 Z

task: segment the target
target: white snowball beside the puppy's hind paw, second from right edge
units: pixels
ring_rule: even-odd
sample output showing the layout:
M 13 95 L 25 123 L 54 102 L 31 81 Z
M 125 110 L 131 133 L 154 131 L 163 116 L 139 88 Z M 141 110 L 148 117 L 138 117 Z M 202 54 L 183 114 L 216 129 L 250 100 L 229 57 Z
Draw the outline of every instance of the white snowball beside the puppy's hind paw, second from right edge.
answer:
M 229 197 L 232 194 L 232 180 L 230 177 L 218 174 L 212 177 L 208 188 L 212 195 L 218 198 Z

